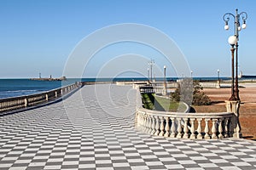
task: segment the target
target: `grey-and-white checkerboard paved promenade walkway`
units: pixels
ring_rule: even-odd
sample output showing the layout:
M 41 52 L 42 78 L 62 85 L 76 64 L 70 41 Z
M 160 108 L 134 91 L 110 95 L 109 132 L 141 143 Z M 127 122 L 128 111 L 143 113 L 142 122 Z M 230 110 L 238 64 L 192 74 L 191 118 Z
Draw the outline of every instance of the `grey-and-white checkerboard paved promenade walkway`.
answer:
M 91 85 L 63 102 L 1 116 L 0 169 L 256 169 L 256 144 L 245 139 L 137 132 L 136 94 Z

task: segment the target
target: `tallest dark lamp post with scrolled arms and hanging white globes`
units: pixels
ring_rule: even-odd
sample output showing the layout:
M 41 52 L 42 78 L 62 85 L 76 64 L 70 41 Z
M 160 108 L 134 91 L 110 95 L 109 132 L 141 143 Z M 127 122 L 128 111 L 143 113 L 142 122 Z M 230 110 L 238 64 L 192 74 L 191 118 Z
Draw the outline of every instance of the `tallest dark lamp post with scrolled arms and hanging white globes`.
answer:
M 230 21 L 230 16 L 232 16 L 235 20 L 235 36 L 236 37 L 236 43 L 233 44 L 233 46 L 236 46 L 236 85 L 235 85 L 235 95 L 236 95 L 236 100 L 240 100 L 239 98 L 239 89 L 238 89 L 238 41 L 239 41 L 239 31 L 242 29 L 246 29 L 246 20 L 247 20 L 247 13 L 241 12 L 238 14 L 238 9 L 236 9 L 236 15 L 231 14 L 231 13 L 226 13 L 223 16 L 223 20 L 225 21 L 225 30 L 229 30 L 229 21 Z M 240 20 L 242 20 L 242 25 L 240 23 Z M 232 45 L 231 45 L 232 46 Z M 234 47 L 233 47 L 234 48 Z M 232 51 L 231 51 L 232 52 Z

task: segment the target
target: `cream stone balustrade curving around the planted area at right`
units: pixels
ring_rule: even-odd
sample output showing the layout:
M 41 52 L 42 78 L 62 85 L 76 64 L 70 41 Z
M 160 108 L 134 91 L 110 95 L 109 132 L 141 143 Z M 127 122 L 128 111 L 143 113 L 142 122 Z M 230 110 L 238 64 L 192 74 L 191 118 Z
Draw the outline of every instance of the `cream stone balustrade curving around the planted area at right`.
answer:
M 222 139 L 233 137 L 234 113 L 177 113 L 137 110 L 137 128 L 159 136 L 179 139 Z

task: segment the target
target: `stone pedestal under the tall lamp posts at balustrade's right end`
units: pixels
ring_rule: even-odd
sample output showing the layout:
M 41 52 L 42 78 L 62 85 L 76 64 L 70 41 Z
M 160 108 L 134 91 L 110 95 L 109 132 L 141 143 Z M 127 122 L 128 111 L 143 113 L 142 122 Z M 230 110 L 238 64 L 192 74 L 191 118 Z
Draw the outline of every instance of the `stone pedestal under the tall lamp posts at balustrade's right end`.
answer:
M 233 112 L 235 114 L 234 118 L 231 120 L 231 126 L 233 129 L 233 137 L 237 139 L 241 139 L 241 126 L 239 122 L 239 108 L 240 101 L 239 100 L 226 100 L 226 109 L 227 112 Z

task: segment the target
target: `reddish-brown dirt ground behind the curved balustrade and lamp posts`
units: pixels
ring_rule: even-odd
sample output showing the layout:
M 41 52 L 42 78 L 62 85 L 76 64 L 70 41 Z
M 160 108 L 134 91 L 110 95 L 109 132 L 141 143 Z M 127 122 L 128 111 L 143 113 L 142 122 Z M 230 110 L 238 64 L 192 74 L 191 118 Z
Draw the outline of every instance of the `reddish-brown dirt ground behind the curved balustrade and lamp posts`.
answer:
M 241 133 L 246 139 L 256 139 L 256 83 L 240 84 L 240 123 Z M 204 88 L 212 100 L 212 105 L 193 106 L 196 112 L 224 112 L 225 100 L 230 98 L 230 88 Z

